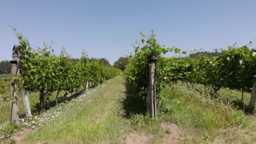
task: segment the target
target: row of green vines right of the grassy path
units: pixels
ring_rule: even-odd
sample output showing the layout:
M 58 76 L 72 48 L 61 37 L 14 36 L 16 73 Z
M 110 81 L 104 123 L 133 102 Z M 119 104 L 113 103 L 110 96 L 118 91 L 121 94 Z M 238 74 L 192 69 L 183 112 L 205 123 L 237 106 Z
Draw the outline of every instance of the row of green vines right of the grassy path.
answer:
M 160 56 L 156 64 L 158 103 L 166 100 L 161 93 L 163 88 L 171 83 L 177 83 L 178 80 L 188 82 L 192 86 L 203 84 L 205 88 L 212 88 L 213 93 L 217 93 L 220 88 L 237 89 L 242 92 L 256 91 L 252 90 L 253 83 L 256 82 L 256 53 L 250 51 L 247 45 L 241 48 L 233 46 L 227 50 L 222 49 L 223 54 L 220 56 L 189 57 L 185 55 L 187 51 L 181 52 L 179 48 L 165 48 L 164 45 L 158 44 L 153 32 L 148 39 L 145 39 L 142 33 L 141 36 L 141 42 L 136 42 L 138 46 L 134 46 L 134 55 L 130 56 L 125 80 L 128 85 L 134 85 L 136 93 L 140 93 L 144 100 L 149 83 L 149 55 Z M 179 56 L 164 57 L 167 52 L 178 53 Z M 250 112 L 253 111 L 254 102 L 255 94 L 251 97 Z

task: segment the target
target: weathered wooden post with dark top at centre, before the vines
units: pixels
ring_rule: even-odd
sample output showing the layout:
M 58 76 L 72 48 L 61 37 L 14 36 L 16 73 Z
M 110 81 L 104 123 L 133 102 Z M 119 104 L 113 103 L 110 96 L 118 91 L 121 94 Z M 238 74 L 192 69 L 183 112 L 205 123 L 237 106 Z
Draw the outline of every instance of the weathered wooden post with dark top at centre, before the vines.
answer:
M 157 104 L 156 104 L 156 96 L 155 96 L 155 63 L 160 56 L 151 55 L 147 57 L 149 60 L 149 109 L 151 117 L 154 119 L 157 117 Z

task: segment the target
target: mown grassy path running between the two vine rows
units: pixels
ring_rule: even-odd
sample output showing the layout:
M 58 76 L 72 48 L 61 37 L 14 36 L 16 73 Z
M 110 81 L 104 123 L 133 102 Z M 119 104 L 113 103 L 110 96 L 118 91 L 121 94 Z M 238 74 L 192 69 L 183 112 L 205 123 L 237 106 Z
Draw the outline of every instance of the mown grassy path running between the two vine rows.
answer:
M 128 132 L 121 99 L 123 77 L 102 85 L 67 112 L 38 128 L 22 143 L 117 143 Z

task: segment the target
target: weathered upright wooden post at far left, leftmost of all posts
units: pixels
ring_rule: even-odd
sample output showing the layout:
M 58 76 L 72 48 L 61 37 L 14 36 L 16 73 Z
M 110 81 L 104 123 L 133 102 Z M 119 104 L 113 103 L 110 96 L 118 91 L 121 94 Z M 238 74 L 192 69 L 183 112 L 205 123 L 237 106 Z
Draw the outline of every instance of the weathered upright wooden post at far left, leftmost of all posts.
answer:
M 19 62 L 20 62 L 19 47 L 14 45 L 13 56 L 11 61 L 12 76 L 16 76 L 20 73 Z M 13 101 L 11 104 L 11 122 L 19 123 L 19 96 L 16 91 L 17 91 L 17 84 L 16 84 L 16 81 L 14 80 L 11 84 L 11 96 L 13 98 Z

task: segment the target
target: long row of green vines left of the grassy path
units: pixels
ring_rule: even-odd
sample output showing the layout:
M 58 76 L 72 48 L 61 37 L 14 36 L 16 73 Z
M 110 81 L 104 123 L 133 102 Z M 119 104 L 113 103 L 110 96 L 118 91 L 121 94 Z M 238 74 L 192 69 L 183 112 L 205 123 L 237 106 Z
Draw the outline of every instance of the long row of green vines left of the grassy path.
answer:
M 16 29 L 14 29 L 16 32 Z M 78 61 L 62 48 L 61 54 L 56 56 L 51 46 L 44 44 L 44 48 L 34 49 L 23 35 L 16 32 L 19 38 L 21 75 L 13 78 L 19 83 L 20 89 L 29 92 L 39 92 L 41 110 L 45 108 L 45 100 L 54 91 L 73 93 L 88 83 L 98 85 L 120 73 L 120 70 L 103 64 L 96 59 L 89 59 L 85 52 Z M 58 94 L 56 102 L 58 102 Z

